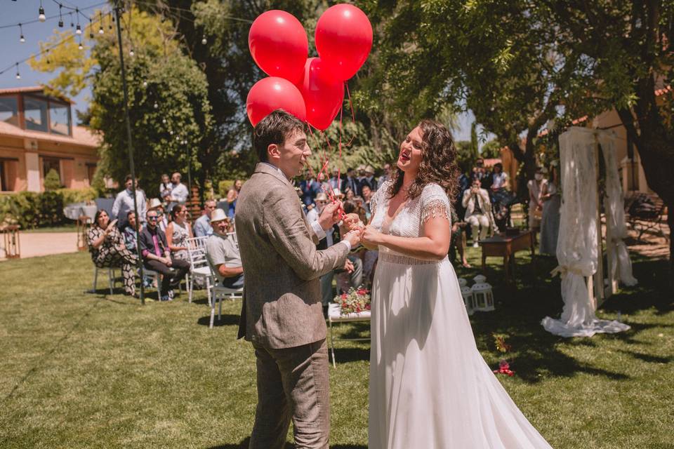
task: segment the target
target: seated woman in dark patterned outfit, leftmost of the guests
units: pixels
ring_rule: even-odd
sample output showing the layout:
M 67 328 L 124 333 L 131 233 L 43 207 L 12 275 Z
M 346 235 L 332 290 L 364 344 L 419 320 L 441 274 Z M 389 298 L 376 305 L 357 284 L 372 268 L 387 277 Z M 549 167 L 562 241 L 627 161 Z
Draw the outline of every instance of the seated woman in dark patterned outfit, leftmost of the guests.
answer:
M 105 210 L 98 210 L 93 225 L 87 233 L 87 243 L 91 260 L 98 268 L 121 267 L 124 276 L 124 291 L 136 296 L 136 263 L 138 257 L 126 249 L 124 238 L 115 226 L 117 220 L 110 221 Z

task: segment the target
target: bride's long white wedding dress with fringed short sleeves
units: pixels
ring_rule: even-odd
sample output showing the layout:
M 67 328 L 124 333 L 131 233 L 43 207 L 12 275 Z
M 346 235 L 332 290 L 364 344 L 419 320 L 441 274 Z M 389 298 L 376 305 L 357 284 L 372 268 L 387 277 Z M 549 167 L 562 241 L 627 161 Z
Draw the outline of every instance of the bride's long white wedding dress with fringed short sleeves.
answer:
M 428 217 L 449 220 L 427 185 L 392 220 L 382 185 L 371 225 L 418 237 Z M 477 351 L 454 268 L 379 248 L 372 287 L 369 449 L 550 448 Z

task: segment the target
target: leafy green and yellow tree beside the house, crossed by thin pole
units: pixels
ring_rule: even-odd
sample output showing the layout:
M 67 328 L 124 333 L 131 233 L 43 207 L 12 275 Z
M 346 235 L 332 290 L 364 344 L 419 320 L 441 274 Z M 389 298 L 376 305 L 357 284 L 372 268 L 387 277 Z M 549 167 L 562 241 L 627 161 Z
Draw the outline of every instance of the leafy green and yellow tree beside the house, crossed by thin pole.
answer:
M 210 149 L 207 137 L 212 126 L 204 74 L 192 59 L 181 53 L 171 22 L 163 22 L 136 8 L 124 13 L 121 22 L 140 187 L 154 192 L 161 173 L 184 174 L 190 167 L 192 175 L 203 185 L 201 161 Z M 68 51 L 74 45 L 70 39 L 64 50 L 50 51 L 33 64 L 37 69 L 65 68 L 59 74 L 62 78 L 53 84 L 59 91 L 77 95 L 84 83 L 92 87 L 93 98 L 86 116 L 91 128 L 103 138 L 98 172 L 121 182 L 128 173 L 128 153 L 121 113 L 124 97 L 117 35 L 112 32 L 93 35 L 91 55 L 84 60 L 77 46 L 74 53 Z M 57 34 L 45 45 L 53 45 L 60 39 L 62 36 Z

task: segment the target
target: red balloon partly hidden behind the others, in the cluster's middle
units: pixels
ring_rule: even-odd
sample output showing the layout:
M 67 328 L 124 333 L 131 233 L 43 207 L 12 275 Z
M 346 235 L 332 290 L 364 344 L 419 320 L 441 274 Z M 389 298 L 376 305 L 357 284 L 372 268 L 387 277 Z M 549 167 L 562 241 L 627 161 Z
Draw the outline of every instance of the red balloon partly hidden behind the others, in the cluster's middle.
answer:
M 344 100 L 344 82 L 331 78 L 321 58 L 309 58 L 298 84 L 307 107 L 307 121 L 324 130 L 335 119 Z

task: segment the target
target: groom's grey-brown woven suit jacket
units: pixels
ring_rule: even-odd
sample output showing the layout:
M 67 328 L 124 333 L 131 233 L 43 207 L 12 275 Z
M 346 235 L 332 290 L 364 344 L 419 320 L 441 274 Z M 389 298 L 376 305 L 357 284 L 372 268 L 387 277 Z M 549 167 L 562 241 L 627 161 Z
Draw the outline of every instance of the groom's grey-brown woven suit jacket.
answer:
M 265 163 L 239 192 L 236 232 L 244 268 L 239 338 L 274 349 L 324 339 L 319 277 L 344 265 L 346 246 L 316 249 L 291 182 Z

